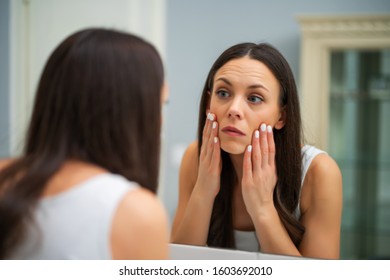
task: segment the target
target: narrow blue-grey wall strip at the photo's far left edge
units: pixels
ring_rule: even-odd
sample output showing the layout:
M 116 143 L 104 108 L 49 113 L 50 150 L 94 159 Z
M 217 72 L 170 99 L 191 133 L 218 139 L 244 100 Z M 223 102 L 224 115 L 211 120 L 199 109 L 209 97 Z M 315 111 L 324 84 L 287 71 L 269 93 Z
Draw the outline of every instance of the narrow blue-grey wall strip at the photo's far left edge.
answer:
M 9 4 L 0 1 L 0 158 L 9 155 Z

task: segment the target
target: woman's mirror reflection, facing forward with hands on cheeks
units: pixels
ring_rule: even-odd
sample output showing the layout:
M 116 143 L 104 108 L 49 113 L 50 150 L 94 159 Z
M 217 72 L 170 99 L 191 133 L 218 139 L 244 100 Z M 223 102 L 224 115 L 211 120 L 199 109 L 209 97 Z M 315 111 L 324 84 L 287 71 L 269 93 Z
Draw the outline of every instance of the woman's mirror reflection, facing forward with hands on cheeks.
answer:
M 223 52 L 203 89 L 198 141 L 182 160 L 172 241 L 338 258 L 341 173 L 301 134 L 279 51 L 242 43 Z

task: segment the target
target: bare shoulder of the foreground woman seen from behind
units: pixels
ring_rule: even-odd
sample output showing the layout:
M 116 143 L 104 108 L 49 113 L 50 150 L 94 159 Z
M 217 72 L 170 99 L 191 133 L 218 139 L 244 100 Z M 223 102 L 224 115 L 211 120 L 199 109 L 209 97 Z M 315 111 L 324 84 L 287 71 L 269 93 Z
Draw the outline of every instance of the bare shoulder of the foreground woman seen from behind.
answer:
M 166 259 L 168 241 L 168 218 L 160 200 L 144 188 L 129 191 L 113 220 L 113 258 Z

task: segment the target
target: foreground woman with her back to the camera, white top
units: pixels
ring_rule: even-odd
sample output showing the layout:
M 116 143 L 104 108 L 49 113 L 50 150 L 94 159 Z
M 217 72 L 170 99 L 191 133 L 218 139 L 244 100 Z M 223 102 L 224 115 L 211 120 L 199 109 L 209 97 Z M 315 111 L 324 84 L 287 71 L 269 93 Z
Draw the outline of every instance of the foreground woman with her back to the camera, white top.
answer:
M 157 189 L 163 65 L 143 39 L 86 29 L 50 56 L 22 156 L 1 162 L 0 256 L 165 259 Z

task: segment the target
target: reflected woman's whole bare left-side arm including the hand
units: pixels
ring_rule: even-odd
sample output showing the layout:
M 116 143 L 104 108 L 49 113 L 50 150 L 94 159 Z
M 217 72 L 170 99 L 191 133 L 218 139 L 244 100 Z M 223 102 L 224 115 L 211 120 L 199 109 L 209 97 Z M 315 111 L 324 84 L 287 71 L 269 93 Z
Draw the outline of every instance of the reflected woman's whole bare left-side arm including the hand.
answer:
M 172 242 L 204 246 L 214 200 L 220 189 L 222 168 L 218 123 L 214 114 L 207 116 L 200 152 L 195 145 L 199 143 L 194 142 L 188 147 L 180 167 L 179 203 L 173 221 Z

